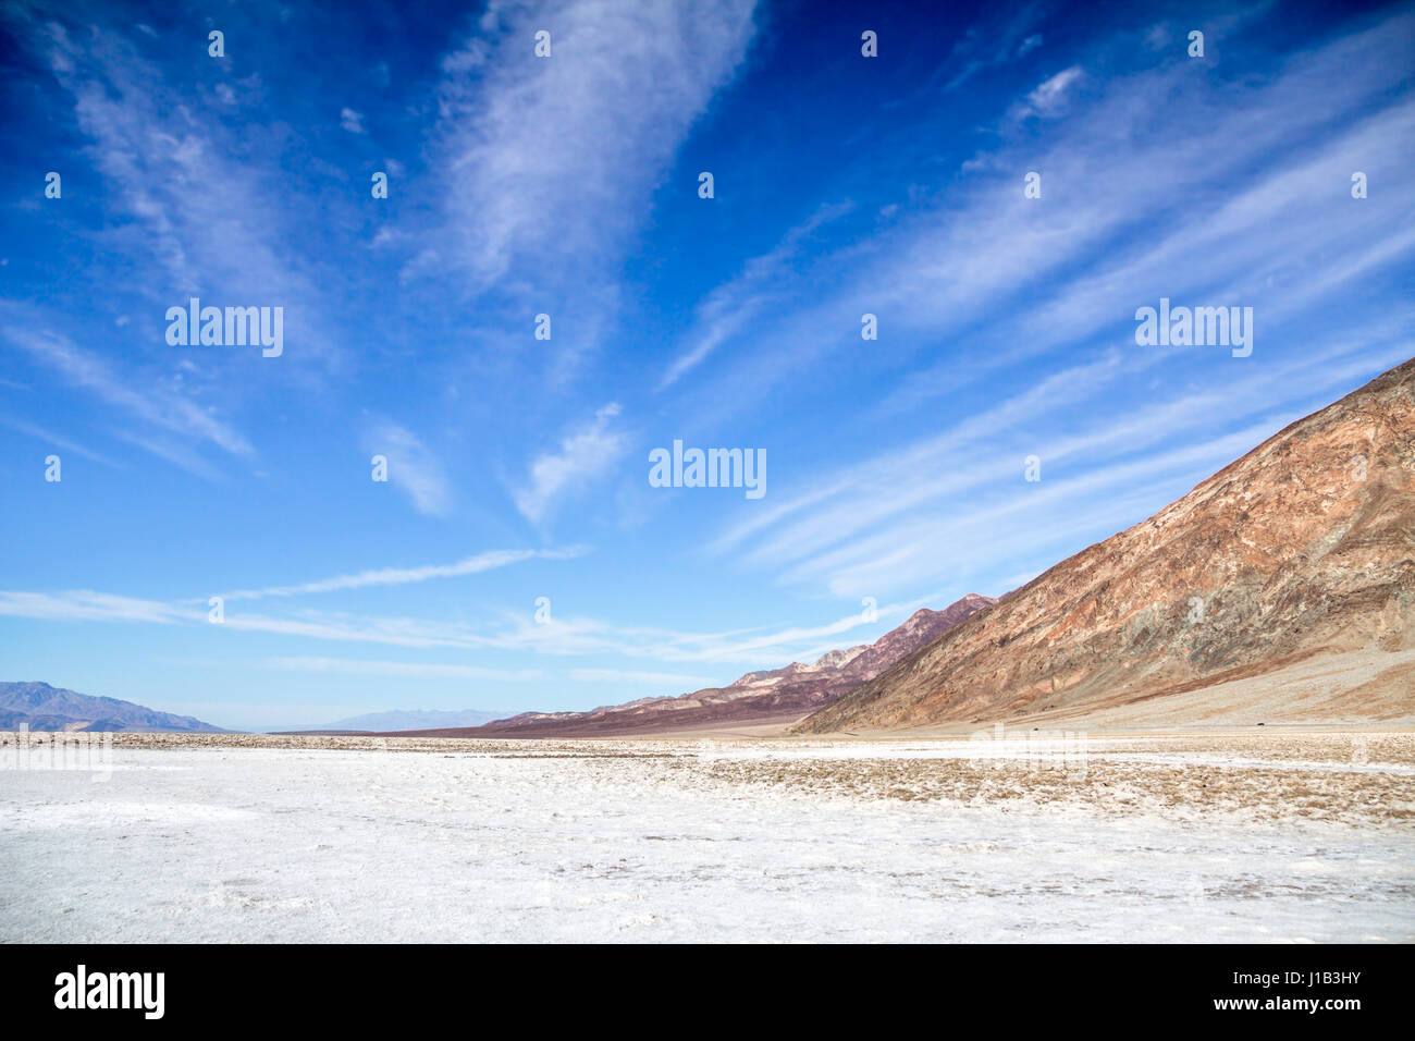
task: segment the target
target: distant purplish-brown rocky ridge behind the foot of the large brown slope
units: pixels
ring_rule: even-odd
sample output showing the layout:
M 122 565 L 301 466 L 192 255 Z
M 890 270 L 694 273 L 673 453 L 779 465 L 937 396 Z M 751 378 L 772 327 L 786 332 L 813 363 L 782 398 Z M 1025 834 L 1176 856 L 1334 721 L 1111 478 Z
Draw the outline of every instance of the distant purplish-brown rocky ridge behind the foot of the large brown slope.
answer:
M 920 608 L 874 643 L 831 650 L 811 664 L 792 661 L 781 669 L 747 673 L 726 687 L 708 687 L 679 697 L 640 698 L 589 712 L 522 712 L 484 727 L 415 732 L 569 738 L 651 735 L 719 724 L 790 722 L 842 697 L 989 603 L 993 603 L 992 598 L 969 593 L 944 610 Z

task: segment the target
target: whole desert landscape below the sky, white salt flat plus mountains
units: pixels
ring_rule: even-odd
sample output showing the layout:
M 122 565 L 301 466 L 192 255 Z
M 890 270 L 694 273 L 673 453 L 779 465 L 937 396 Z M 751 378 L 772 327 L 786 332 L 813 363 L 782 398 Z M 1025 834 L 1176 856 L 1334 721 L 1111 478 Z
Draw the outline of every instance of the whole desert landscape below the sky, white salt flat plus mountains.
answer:
M 6 698 L 7 939 L 1411 942 L 1415 361 L 724 687 L 385 734 Z M 91 728 L 106 783 L 37 755 Z

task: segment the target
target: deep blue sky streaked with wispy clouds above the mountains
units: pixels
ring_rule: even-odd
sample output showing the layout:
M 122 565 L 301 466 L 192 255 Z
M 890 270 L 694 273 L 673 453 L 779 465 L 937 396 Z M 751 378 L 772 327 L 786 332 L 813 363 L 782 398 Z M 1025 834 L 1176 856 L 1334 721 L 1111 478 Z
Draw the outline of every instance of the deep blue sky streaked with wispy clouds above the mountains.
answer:
M 0 678 L 219 725 L 873 640 L 1415 354 L 1408 6 L 21 0 L 0 58 Z

